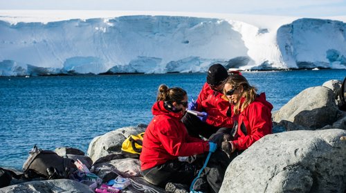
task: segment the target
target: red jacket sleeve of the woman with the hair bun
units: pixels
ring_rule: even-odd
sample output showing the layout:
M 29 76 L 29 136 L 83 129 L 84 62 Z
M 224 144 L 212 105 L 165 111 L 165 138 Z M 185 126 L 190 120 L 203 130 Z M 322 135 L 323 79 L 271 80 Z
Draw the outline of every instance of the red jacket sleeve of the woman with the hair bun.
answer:
M 208 141 L 186 142 L 185 134 L 187 132 L 183 135 L 182 133 L 184 132 L 179 128 L 179 125 L 176 125 L 174 121 L 167 120 L 167 123 L 158 132 L 158 139 L 160 139 L 163 148 L 173 156 L 192 156 L 203 154 L 209 150 Z

